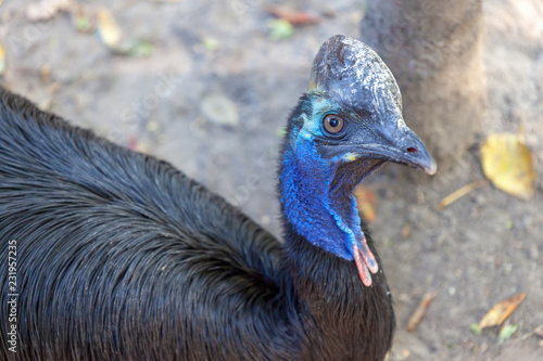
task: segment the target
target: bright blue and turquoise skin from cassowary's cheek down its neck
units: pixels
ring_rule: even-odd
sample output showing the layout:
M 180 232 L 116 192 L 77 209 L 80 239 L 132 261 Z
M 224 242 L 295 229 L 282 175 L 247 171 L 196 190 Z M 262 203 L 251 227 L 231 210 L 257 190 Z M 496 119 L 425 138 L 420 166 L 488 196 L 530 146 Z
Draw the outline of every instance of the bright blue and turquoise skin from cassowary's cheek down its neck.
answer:
M 280 176 L 283 212 L 295 231 L 313 245 L 352 261 L 353 245 L 359 246 L 364 236 L 356 198 L 349 192 L 346 199 L 338 199 L 332 181 L 338 167 L 353 162 L 354 155 L 344 151 L 326 158 L 319 145 L 328 138 L 321 127 L 326 115 L 351 114 L 343 117 L 344 121 L 353 120 L 356 115 L 328 98 L 310 95 L 307 101 L 311 112 L 299 115 L 303 126 L 290 132 L 283 154 Z

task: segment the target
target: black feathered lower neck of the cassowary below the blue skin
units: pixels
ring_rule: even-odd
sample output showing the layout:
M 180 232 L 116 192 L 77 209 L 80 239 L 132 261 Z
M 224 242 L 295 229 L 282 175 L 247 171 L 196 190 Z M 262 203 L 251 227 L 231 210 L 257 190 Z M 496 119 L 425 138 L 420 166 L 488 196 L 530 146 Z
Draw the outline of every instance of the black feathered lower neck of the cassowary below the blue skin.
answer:
M 282 268 L 293 286 L 288 293 L 295 300 L 292 322 L 300 320 L 308 335 L 312 359 L 383 360 L 392 344 L 394 311 L 382 270 L 366 287 L 354 262 L 314 246 L 285 223 Z M 378 258 L 369 237 L 368 245 Z

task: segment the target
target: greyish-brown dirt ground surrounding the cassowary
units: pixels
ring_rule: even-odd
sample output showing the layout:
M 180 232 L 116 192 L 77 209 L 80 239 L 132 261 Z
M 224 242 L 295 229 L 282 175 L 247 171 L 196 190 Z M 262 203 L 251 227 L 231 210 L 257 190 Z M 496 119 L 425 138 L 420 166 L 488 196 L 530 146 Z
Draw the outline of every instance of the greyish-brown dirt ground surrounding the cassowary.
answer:
M 281 129 L 320 43 L 359 35 L 363 0 L 289 1 L 321 21 L 279 41 L 269 38 L 262 0 L 87 2 L 112 11 L 124 40 L 147 41 L 148 56 L 114 54 L 96 33 L 77 31 L 68 13 L 31 22 L 30 2 L 0 1 L 3 86 L 167 159 L 280 236 Z M 391 360 L 543 360 L 541 338 L 530 335 L 543 324 L 543 4 L 487 0 L 485 17 L 489 112 L 479 139 L 523 123 L 538 191 L 525 202 L 485 185 L 438 211 L 442 197 L 483 177 L 478 144 L 433 179 L 391 165 L 368 181 L 378 197 L 371 229 L 397 314 Z M 428 313 L 406 332 L 431 289 L 438 296 Z M 527 299 L 507 321 L 518 325 L 510 339 L 498 341 L 498 330 L 470 331 L 494 304 L 523 291 Z

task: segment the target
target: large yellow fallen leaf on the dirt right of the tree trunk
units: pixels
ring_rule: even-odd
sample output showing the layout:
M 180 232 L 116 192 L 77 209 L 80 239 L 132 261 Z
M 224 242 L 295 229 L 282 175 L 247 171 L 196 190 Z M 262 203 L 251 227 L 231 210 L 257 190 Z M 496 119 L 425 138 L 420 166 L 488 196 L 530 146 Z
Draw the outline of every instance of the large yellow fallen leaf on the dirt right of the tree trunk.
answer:
M 484 175 L 500 190 L 528 199 L 534 193 L 532 155 L 521 134 L 492 133 L 481 145 Z

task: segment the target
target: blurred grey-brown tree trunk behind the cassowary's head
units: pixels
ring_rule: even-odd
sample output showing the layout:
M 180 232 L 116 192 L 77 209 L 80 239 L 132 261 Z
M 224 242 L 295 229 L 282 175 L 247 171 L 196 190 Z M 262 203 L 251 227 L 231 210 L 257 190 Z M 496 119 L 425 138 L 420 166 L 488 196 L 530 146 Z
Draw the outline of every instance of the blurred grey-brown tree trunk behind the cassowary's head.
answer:
M 368 0 L 362 40 L 390 67 L 407 125 L 446 169 L 487 106 L 482 0 Z

